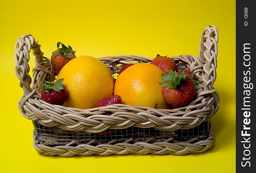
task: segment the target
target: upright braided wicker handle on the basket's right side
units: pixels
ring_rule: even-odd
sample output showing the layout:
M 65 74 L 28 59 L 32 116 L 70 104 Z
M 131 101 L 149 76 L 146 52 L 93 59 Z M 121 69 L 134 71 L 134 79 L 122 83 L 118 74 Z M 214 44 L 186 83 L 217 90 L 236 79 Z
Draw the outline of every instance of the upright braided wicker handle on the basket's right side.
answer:
M 204 91 L 211 91 L 216 80 L 217 55 L 218 55 L 218 29 L 208 25 L 202 33 L 199 49 L 199 61 L 203 64 L 205 74 L 202 81 L 205 83 Z

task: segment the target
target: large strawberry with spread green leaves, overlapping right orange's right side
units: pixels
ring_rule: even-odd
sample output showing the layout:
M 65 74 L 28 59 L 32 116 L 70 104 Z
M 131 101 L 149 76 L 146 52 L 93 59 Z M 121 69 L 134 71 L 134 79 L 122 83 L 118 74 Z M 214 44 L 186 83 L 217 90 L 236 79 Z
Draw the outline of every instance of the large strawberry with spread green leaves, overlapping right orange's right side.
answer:
M 179 74 L 169 70 L 168 74 L 162 74 L 162 79 L 166 81 L 159 83 L 163 86 L 163 98 L 172 108 L 185 106 L 196 96 L 195 84 L 183 70 Z

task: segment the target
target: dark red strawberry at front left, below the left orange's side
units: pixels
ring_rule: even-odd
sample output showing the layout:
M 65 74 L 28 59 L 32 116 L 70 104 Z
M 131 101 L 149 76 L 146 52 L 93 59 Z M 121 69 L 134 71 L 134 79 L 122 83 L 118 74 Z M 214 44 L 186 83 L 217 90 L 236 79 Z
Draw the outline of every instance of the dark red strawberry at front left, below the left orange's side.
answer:
M 62 106 L 68 99 L 67 89 L 63 84 L 64 79 L 59 79 L 56 82 L 47 82 L 45 80 L 45 86 L 41 92 L 41 98 L 50 104 Z

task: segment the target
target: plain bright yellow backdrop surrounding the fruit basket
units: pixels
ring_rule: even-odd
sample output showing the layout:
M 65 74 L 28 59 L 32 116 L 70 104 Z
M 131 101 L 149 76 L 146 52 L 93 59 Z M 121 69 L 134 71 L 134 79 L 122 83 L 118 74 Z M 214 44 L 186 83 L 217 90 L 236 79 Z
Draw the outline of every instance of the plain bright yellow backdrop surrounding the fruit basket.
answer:
M 235 172 L 235 0 L 10 0 L 1 2 L 0 16 L 0 172 Z M 71 45 L 77 56 L 197 56 L 207 25 L 219 31 L 214 87 L 221 98 L 212 118 L 214 144 L 207 152 L 62 158 L 34 150 L 32 123 L 17 108 L 23 93 L 14 74 L 18 37 L 31 33 L 46 57 L 58 41 Z

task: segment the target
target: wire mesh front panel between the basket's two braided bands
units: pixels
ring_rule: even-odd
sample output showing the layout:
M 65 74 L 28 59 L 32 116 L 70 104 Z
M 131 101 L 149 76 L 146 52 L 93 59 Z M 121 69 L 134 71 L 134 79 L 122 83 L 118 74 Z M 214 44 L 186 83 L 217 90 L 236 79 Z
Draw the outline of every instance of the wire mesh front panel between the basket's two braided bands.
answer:
M 64 146 L 72 142 L 70 146 L 77 146 L 94 141 L 91 145 L 107 144 L 115 142 L 187 142 L 197 138 L 193 142 L 205 140 L 209 137 L 209 121 L 203 122 L 190 129 L 178 129 L 175 131 L 160 131 L 154 128 L 128 127 L 125 129 L 107 129 L 100 133 L 88 133 L 85 131 L 66 131 L 59 127 L 47 127 L 35 122 L 38 143 L 48 146 Z

